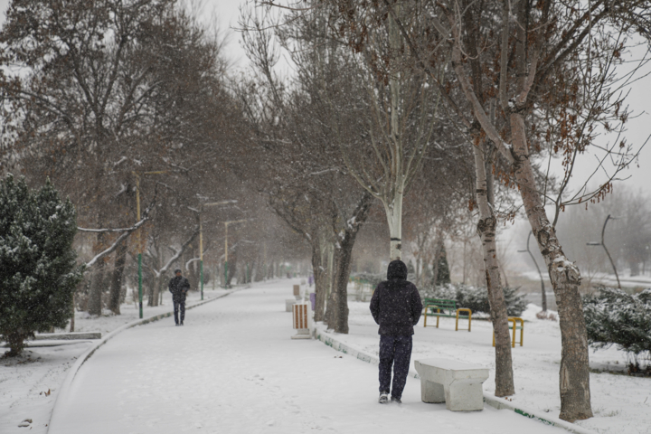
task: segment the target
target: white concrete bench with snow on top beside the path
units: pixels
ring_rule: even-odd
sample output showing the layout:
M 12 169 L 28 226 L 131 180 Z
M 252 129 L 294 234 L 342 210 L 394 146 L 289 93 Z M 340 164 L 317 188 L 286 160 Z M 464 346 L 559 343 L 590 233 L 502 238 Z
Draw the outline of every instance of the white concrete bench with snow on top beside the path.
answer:
M 488 378 L 487 368 L 449 359 L 416 360 L 414 364 L 423 402 L 445 402 L 451 411 L 484 410 L 482 383 Z

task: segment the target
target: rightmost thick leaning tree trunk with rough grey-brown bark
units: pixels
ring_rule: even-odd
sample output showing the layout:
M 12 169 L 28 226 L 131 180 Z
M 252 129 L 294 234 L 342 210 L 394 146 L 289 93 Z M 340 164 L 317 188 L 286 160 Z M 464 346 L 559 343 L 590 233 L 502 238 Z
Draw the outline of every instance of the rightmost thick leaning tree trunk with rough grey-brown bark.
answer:
M 533 168 L 520 113 L 511 114 L 515 179 L 520 186 L 524 209 L 533 236 L 547 264 L 561 325 L 561 415 L 562 420 L 584 420 L 592 417 L 590 407 L 590 360 L 588 334 L 579 286 L 580 271 L 565 257 L 556 231 L 547 219 L 535 184 Z

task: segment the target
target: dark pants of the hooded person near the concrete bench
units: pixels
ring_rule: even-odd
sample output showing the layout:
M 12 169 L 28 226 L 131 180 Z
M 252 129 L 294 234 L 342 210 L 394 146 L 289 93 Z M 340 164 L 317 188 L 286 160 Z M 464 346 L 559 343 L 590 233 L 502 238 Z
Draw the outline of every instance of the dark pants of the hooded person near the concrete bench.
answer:
M 389 392 L 393 367 L 392 396 L 401 398 L 411 359 L 411 336 L 380 335 L 380 392 Z

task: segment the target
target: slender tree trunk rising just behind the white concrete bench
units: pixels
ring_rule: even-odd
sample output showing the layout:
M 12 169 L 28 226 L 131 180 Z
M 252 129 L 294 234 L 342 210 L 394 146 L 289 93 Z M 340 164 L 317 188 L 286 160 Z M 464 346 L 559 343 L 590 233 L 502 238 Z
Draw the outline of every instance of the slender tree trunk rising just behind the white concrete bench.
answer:
M 495 332 L 495 396 L 508 396 L 515 393 L 513 360 L 511 356 L 511 337 L 509 335 L 508 314 L 499 264 L 496 258 L 495 226 L 497 220 L 488 202 L 486 183 L 485 146 L 473 146 L 475 154 L 476 201 L 479 208 L 477 234 L 484 249 L 486 288 L 491 308 L 491 321 Z

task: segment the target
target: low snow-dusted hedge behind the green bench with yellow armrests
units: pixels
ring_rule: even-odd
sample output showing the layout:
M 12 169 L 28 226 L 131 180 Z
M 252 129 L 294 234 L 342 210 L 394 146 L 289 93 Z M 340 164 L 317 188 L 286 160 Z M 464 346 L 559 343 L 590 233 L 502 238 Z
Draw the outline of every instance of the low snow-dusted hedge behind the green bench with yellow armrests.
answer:
M 524 294 L 517 293 L 518 288 L 504 288 L 506 312 L 508 316 L 521 316 L 526 309 Z M 436 289 L 421 289 L 420 297 L 447 298 L 457 300 L 457 307 L 466 307 L 475 313 L 490 314 L 488 292 L 486 288 L 475 288 L 463 283 L 440 285 Z

